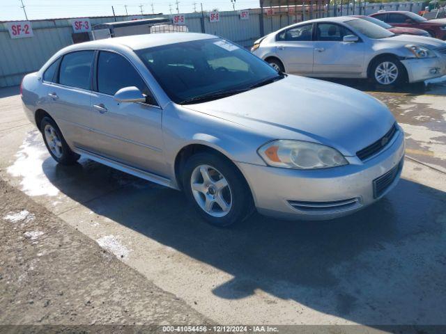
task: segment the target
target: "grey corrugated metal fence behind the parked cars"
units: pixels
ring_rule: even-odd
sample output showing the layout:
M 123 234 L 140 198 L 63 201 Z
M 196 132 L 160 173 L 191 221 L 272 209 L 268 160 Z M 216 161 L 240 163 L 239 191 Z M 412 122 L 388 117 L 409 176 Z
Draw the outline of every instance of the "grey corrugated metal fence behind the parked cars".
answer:
M 362 5 L 362 13 L 369 15 L 378 10 L 410 10 L 415 13 L 422 9 L 422 2 L 407 3 L 367 3 Z M 275 11 L 274 15 L 263 15 L 263 33 L 300 22 L 311 17 L 352 15 L 360 13 L 359 7 L 344 5 L 325 6 L 317 13 L 309 13 L 308 8 L 300 13 L 295 10 L 293 15 Z M 171 17 L 171 15 L 155 15 L 156 17 Z M 141 15 L 142 17 L 142 15 Z M 144 15 L 150 18 L 153 15 Z M 91 17 L 91 25 L 113 22 L 114 17 Z M 129 19 L 117 16 L 117 21 Z M 204 31 L 202 28 L 202 22 Z M 228 40 L 250 47 L 254 40 L 261 37 L 261 11 L 249 10 L 249 19 L 240 19 L 239 11 L 220 12 L 220 22 L 209 22 L 207 14 L 185 14 L 185 24 L 189 31 L 205 32 L 218 35 Z M 0 22 L 0 87 L 20 84 L 24 74 L 38 70 L 47 59 L 59 49 L 72 44 L 72 26 L 69 19 L 45 19 L 32 22 L 33 37 L 11 39 L 5 22 Z

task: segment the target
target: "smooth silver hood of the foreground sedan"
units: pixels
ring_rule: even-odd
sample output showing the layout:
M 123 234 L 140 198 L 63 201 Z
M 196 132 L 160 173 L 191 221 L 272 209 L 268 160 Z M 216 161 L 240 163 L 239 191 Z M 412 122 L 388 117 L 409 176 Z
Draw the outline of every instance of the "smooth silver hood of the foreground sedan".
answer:
M 339 84 L 289 75 L 272 84 L 187 109 L 236 122 L 266 139 L 322 143 L 346 156 L 377 141 L 395 122 L 385 104 Z

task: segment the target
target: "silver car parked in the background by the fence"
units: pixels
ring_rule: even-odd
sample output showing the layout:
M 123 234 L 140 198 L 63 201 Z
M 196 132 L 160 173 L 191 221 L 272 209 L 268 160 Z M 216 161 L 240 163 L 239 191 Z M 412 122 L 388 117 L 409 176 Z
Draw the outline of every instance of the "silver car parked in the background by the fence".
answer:
M 256 40 L 252 52 L 277 70 L 308 77 L 369 78 L 395 85 L 446 74 L 446 42 L 395 35 L 354 17 L 287 26 Z

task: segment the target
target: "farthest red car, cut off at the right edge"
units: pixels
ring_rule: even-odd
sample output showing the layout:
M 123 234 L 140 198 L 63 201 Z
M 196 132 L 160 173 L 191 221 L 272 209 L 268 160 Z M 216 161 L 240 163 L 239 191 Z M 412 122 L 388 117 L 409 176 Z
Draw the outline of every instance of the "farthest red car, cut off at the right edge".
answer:
M 446 19 L 429 19 L 428 21 L 420 15 L 404 11 L 378 12 L 369 16 L 391 26 L 423 29 L 432 37 L 446 40 Z

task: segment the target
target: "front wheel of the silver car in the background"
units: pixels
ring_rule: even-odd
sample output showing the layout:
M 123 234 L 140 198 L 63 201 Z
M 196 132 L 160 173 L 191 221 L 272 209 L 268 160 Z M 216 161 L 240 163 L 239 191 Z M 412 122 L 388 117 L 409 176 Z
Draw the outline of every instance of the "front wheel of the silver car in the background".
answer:
M 404 81 L 406 69 L 397 58 L 387 56 L 374 61 L 370 75 L 375 84 L 392 86 Z

